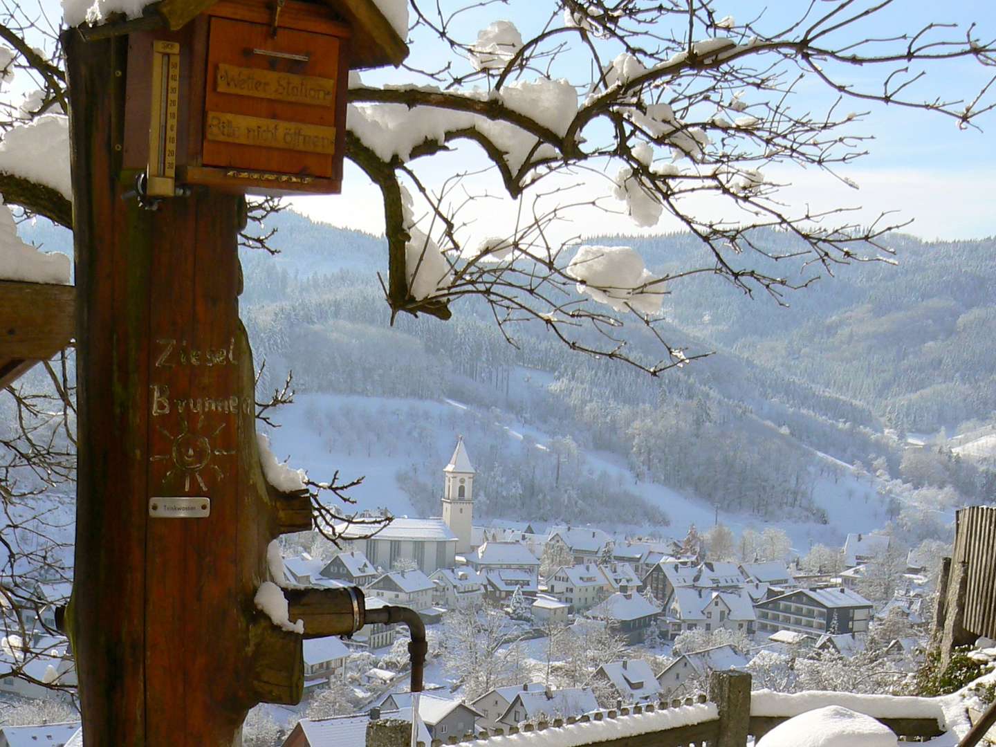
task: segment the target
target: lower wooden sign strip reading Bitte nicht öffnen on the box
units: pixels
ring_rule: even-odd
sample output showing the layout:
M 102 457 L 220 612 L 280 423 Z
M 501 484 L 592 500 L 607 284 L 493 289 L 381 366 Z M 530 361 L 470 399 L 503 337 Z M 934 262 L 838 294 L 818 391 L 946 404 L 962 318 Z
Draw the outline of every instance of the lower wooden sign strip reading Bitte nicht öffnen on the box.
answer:
M 205 137 L 254 147 L 278 147 L 306 153 L 336 152 L 336 128 L 321 124 L 264 120 L 260 117 L 208 112 Z

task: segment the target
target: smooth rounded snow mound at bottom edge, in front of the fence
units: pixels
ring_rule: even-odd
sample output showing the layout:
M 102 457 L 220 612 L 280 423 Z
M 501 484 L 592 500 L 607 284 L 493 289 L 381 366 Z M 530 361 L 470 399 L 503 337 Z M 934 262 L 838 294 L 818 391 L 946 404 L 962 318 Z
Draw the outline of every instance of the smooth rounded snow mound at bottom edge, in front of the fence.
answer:
M 769 731 L 757 747 L 895 747 L 895 734 L 864 713 L 828 705 L 793 716 Z

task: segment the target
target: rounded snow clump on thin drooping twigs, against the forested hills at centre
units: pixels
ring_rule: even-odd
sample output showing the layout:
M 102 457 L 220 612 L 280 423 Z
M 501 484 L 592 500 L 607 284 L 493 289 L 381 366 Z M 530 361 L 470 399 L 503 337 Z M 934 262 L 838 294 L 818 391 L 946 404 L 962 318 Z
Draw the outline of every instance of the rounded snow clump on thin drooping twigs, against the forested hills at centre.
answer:
M 578 282 L 578 292 L 616 311 L 632 308 L 642 314 L 660 311 L 662 283 L 628 246 L 581 246 L 565 272 Z M 653 285 L 648 285 L 653 283 Z

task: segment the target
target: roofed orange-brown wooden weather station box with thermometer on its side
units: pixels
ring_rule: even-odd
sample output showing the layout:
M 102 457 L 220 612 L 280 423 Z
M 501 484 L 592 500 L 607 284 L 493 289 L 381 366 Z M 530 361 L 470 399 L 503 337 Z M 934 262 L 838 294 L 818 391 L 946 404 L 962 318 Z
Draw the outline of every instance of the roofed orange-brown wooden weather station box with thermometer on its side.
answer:
M 340 192 L 349 72 L 407 54 L 371 0 L 150 8 L 159 28 L 144 28 L 154 25 L 144 19 L 121 27 L 123 167 L 144 171 L 145 194 L 171 197 L 197 184 Z

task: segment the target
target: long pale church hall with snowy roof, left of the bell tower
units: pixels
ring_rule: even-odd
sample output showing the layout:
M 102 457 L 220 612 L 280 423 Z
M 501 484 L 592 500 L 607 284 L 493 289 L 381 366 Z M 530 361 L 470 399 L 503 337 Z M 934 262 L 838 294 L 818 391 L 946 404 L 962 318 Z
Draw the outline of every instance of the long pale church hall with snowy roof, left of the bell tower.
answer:
M 430 574 L 456 565 L 457 537 L 442 519 L 395 517 L 373 537 L 363 524 L 343 522 L 335 529 L 344 547 L 363 553 L 373 566 L 393 568 L 398 561 L 409 561 Z

